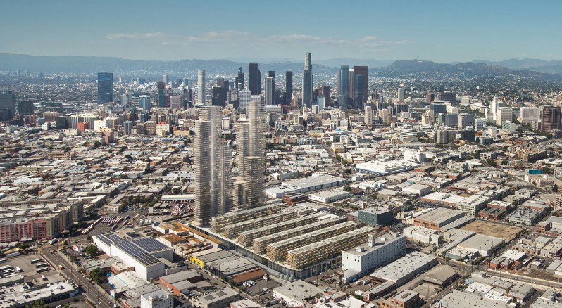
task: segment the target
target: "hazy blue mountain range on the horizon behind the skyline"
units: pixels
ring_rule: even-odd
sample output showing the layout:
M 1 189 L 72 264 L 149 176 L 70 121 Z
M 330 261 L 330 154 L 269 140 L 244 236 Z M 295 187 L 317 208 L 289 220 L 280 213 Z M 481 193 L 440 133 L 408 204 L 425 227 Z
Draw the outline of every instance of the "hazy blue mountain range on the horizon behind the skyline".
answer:
M 86 73 L 114 72 L 123 77 L 156 77 L 163 73 L 173 77 L 193 77 L 204 69 L 207 76 L 233 75 L 238 68 L 248 72 L 247 62 L 231 60 L 127 60 L 114 57 L 85 56 L 30 56 L 0 53 L 0 70 L 30 70 L 32 72 Z M 537 59 L 510 59 L 499 62 L 473 61 L 466 63 L 435 63 L 427 60 L 361 60 L 334 58 L 313 63 L 315 74 L 337 74 L 339 65 L 368 65 L 370 75 L 377 77 L 456 78 L 518 77 L 535 81 L 561 82 L 562 61 Z M 262 76 L 268 70 L 278 75 L 292 70 L 295 75 L 303 70 L 303 63 L 285 61 L 260 63 Z

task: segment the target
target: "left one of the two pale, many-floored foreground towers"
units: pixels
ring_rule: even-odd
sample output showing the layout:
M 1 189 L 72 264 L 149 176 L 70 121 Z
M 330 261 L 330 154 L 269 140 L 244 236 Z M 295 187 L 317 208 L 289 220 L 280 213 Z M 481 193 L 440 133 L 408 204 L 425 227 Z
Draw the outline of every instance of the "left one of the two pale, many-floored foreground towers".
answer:
M 211 218 L 230 212 L 230 150 L 220 140 L 220 107 L 205 106 L 195 122 L 195 224 L 208 226 Z

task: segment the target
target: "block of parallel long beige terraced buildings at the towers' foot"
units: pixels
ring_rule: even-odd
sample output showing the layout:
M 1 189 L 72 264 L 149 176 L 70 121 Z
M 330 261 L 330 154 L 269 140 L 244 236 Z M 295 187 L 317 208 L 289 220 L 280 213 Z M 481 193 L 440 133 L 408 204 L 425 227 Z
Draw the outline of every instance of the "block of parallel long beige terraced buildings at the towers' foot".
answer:
M 275 203 L 230 212 L 211 220 L 210 228 L 192 226 L 281 275 L 304 279 L 341 265 L 342 250 L 366 243 L 376 233 L 327 212 Z

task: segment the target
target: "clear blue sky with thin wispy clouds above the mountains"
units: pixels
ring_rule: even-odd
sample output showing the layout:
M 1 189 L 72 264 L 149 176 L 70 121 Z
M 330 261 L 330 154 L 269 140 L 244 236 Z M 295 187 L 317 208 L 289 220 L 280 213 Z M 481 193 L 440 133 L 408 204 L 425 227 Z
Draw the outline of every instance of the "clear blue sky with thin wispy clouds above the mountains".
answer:
M 562 60 L 562 1 L 2 1 L 0 53 Z

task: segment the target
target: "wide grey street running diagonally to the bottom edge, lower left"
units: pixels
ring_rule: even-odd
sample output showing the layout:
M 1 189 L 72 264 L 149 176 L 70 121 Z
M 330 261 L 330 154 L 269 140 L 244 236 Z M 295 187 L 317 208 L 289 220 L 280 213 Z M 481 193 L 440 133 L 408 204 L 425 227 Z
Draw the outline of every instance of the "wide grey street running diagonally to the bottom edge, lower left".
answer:
M 75 282 L 80 285 L 83 290 L 86 291 L 86 296 L 90 301 L 94 303 L 96 307 L 100 308 L 113 308 L 116 307 L 113 304 L 113 299 L 101 288 L 99 285 L 94 285 L 92 281 L 85 278 L 80 274 L 75 265 L 70 263 L 64 256 L 58 255 L 58 252 L 50 252 L 44 254 L 44 257 L 54 264 L 54 267 L 58 268 L 58 264 L 61 264 L 64 269 L 61 274 L 70 281 Z

